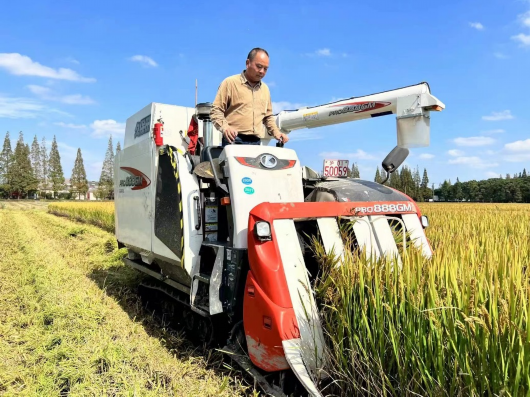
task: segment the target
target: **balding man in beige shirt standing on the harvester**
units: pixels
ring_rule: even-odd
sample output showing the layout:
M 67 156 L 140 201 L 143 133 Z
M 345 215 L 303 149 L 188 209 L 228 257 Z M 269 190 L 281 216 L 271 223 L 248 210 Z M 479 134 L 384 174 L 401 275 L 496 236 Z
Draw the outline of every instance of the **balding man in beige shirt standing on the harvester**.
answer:
M 210 118 L 223 134 L 223 147 L 231 143 L 259 145 L 265 130 L 278 141 L 289 140 L 276 125 L 269 87 L 262 81 L 268 68 L 267 51 L 254 48 L 248 54 L 246 69 L 219 86 Z

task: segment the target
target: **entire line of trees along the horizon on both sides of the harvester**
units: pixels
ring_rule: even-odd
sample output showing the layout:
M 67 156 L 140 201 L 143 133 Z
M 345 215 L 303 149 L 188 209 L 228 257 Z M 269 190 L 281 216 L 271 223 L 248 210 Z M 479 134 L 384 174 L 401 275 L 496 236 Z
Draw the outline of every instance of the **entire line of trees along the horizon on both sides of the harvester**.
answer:
M 30 147 L 24 142 L 23 133 L 20 132 L 16 145 L 12 149 L 9 131 L 6 133 L 0 152 L 0 197 L 86 197 L 89 182 L 86 177 L 81 148 L 77 149 L 77 156 L 70 174 L 70 183 L 67 186 L 55 135 L 49 152 L 46 147 L 45 137 L 39 144 L 35 135 Z M 121 146 L 120 142 L 117 142 L 116 153 L 119 150 L 121 150 Z M 356 163 L 353 163 L 351 169 L 348 170 L 347 176 L 350 178 L 361 177 Z M 386 177 L 386 172 L 378 166 L 373 179 L 374 182 L 382 183 Z M 434 184 L 429 187 L 429 176 L 426 168 L 420 174 L 418 167 L 413 170 L 408 166 L 402 166 L 390 174 L 385 185 L 407 194 L 415 201 L 428 201 L 437 196 L 441 201 L 530 202 L 530 176 L 527 175 L 526 169 L 518 174 L 507 174 L 505 178 L 499 176 L 499 178 L 467 182 L 460 182 L 457 178 L 454 184 L 450 180 L 444 180 L 438 188 L 435 188 Z M 98 199 L 114 199 L 112 136 L 109 137 L 105 159 L 94 194 Z

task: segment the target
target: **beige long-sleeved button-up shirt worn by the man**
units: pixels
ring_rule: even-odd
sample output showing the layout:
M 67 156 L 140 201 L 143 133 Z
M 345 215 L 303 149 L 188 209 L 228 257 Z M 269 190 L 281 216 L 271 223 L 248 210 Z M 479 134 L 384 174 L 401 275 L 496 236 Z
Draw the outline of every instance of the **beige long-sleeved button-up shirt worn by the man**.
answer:
M 265 138 L 265 130 L 274 136 L 280 133 L 274 116 L 269 87 L 260 81 L 250 85 L 244 72 L 223 80 L 213 102 L 210 117 L 219 131 L 227 126 L 238 134 Z

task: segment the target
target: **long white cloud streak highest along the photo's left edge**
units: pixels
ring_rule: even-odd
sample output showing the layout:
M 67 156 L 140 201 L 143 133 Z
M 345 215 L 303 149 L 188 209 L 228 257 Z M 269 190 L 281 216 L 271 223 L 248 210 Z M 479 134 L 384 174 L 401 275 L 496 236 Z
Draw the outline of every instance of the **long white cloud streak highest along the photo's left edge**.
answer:
M 0 53 L 0 68 L 16 76 L 37 76 L 57 80 L 79 81 L 93 83 L 94 78 L 80 76 L 72 69 L 54 69 L 34 62 L 30 57 L 18 53 Z

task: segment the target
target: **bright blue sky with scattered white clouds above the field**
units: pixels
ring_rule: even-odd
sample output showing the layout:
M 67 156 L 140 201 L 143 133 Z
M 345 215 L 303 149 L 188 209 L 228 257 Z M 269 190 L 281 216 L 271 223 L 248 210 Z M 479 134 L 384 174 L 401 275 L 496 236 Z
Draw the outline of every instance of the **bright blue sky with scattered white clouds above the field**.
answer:
M 109 134 L 150 102 L 213 101 L 248 51 L 270 54 L 276 110 L 427 81 L 446 104 L 431 146 L 406 164 L 444 179 L 530 169 L 530 0 L 377 2 L 17 1 L 0 13 L 0 138 L 57 137 L 65 176 L 80 147 L 99 178 Z M 395 117 L 293 134 L 320 170 L 357 162 L 361 177 L 396 144 Z

